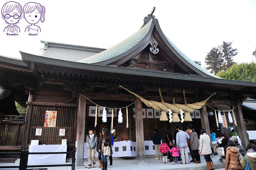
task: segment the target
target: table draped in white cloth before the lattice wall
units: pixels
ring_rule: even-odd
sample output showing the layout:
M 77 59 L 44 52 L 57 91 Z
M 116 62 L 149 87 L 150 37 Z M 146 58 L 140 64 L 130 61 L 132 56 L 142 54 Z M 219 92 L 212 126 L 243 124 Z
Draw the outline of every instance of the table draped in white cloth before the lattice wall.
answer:
M 67 145 L 30 145 L 29 152 L 66 152 Z M 67 154 L 29 154 L 28 164 L 65 163 Z

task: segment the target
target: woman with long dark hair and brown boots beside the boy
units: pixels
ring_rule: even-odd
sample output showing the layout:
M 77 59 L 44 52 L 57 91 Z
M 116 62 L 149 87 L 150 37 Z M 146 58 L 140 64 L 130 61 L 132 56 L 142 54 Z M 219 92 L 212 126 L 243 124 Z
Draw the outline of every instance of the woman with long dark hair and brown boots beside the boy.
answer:
M 101 151 L 101 158 L 102 158 L 102 169 L 103 170 L 107 170 L 108 167 L 108 162 L 107 162 L 107 156 L 104 155 L 104 146 L 109 146 L 111 147 L 111 135 L 110 133 L 107 131 L 107 129 L 103 129 L 102 130 L 102 139 L 100 139 L 99 141 L 99 145 L 98 145 L 98 151 Z M 113 152 L 111 150 L 110 155 L 112 155 Z

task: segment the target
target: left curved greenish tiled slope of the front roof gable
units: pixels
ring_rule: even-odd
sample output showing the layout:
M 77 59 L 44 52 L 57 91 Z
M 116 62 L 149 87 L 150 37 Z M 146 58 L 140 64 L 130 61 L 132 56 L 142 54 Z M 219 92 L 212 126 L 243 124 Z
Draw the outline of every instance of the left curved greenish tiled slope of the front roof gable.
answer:
M 95 54 L 91 57 L 78 60 L 79 63 L 87 63 L 87 64 L 100 64 L 107 65 L 113 63 L 114 61 L 125 56 L 125 53 L 131 50 L 136 44 L 142 42 L 144 37 L 147 38 L 146 35 L 151 34 L 153 30 L 154 24 L 152 24 L 153 19 L 151 19 L 144 27 L 138 30 L 133 35 L 129 36 L 127 39 L 122 42 L 116 44 L 115 46 L 104 50 L 98 54 Z M 151 30 L 151 31 L 150 31 Z M 122 55 L 123 54 L 123 55 Z M 120 57 L 117 57 L 120 56 Z M 113 59 L 114 58 L 114 59 Z

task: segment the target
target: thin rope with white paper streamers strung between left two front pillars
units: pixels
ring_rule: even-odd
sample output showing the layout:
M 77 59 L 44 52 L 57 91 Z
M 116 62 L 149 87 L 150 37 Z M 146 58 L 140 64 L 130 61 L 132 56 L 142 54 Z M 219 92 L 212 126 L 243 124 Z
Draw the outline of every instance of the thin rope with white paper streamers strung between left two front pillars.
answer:
M 84 95 L 82 95 L 83 97 L 85 97 Z M 87 100 L 89 100 L 90 102 L 92 102 L 93 104 L 95 104 L 96 105 L 96 109 L 97 109 L 97 107 L 98 106 L 100 106 L 100 107 L 103 107 L 103 106 L 101 106 L 101 105 L 98 105 L 98 104 L 96 104 L 96 103 L 94 103 L 93 101 L 91 101 L 90 99 L 88 99 L 87 97 L 85 97 Z M 72 99 L 71 99 L 72 100 Z M 139 101 L 140 99 L 138 99 L 138 100 L 136 100 L 135 102 L 133 102 L 132 104 L 134 104 L 134 103 L 136 103 L 137 101 Z M 125 107 L 121 107 L 121 108 L 114 108 L 114 109 L 120 109 L 120 111 L 121 111 L 121 109 L 123 109 L 123 108 L 126 108 L 126 128 L 128 128 L 129 127 L 129 124 L 128 124 L 128 107 L 130 106 L 130 105 L 132 105 L 132 104 L 129 104 L 128 106 L 125 106 Z M 112 109 L 112 115 L 111 115 L 111 130 L 113 130 L 113 115 L 114 115 L 114 109 L 113 108 L 108 108 L 108 107 L 103 107 L 104 109 L 103 109 L 103 113 L 105 113 L 106 112 L 106 109 Z M 119 112 L 120 112 L 119 111 Z M 122 112 L 121 112 L 122 113 Z M 122 115 L 121 115 L 122 116 Z M 119 115 L 118 115 L 118 119 L 119 119 Z M 103 115 L 102 115 L 102 120 L 103 120 Z M 106 116 L 104 116 L 104 120 L 103 120 L 103 122 L 107 122 L 107 112 L 106 112 Z M 121 123 L 123 122 L 123 118 L 121 119 Z M 118 123 L 120 123 L 119 122 L 119 120 L 118 120 Z M 96 127 L 96 125 L 97 125 L 97 114 L 95 114 L 95 127 Z

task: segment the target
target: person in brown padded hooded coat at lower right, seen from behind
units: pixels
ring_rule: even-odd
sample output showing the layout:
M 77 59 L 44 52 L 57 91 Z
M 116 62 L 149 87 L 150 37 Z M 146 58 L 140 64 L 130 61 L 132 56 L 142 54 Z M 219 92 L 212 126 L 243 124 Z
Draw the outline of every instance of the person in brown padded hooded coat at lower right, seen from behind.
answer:
M 239 148 L 235 147 L 235 143 L 230 141 L 227 143 L 225 170 L 239 169 L 243 170 L 239 162 Z

